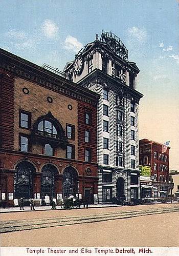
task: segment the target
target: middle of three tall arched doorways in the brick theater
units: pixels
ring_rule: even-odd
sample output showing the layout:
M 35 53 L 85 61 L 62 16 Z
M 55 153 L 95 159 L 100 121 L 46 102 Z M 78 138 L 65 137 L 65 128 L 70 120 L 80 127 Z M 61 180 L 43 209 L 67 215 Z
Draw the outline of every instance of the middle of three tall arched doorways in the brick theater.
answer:
M 48 164 L 42 167 L 41 172 L 41 198 L 44 198 L 45 195 L 55 198 L 55 175 L 58 173 L 57 168 L 54 165 Z

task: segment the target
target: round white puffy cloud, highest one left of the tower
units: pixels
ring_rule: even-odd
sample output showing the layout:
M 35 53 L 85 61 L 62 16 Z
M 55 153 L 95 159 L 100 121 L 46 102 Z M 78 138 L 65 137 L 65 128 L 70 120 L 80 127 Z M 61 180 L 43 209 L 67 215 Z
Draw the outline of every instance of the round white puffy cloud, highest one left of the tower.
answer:
M 53 21 L 46 19 L 41 25 L 41 30 L 46 37 L 55 38 L 58 35 L 59 28 Z

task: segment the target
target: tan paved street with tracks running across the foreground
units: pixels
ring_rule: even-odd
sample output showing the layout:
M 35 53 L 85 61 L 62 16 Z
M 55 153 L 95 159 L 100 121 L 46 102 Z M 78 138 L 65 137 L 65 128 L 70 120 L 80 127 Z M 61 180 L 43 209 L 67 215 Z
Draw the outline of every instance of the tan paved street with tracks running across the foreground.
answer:
M 177 204 L 1 213 L 2 246 L 177 246 Z

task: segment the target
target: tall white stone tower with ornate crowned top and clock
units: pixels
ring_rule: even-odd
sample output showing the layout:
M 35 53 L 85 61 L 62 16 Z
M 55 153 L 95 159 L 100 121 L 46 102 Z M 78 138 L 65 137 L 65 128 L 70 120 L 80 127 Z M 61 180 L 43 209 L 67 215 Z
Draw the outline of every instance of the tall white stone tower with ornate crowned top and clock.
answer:
M 128 61 L 128 52 L 113 33 L 85 45 L 64 68 L 69 79 L 100 94 L 98 105 L 99 203 L 125 195 L 140 198 L 139 100 L 136 90 L 139 69 Z

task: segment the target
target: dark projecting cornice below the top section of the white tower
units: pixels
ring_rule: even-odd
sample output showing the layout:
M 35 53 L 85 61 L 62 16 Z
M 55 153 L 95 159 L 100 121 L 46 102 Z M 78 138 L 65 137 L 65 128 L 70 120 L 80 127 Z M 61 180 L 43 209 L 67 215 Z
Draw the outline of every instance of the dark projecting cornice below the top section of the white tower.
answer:
M 82 78 L 78 84 L 85 88 L 90 88 L 94 84 L 100 84 L 110 90 L 113 90 L 115 93 L 123 94 L 124 96 L 131 99 L 131 97 L 139 103 L 139 100 L 143 97 L 143 94 L 130 88 L 129 86 L 123 84 L 120 81 L 117 81 L 115 78 L 111 77 L 108 74 L 103 73 L 100 69 L 93 70 L 92 73 L 89 73 L 87 76 Z

